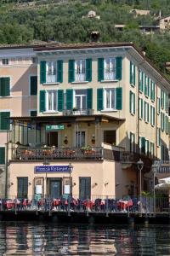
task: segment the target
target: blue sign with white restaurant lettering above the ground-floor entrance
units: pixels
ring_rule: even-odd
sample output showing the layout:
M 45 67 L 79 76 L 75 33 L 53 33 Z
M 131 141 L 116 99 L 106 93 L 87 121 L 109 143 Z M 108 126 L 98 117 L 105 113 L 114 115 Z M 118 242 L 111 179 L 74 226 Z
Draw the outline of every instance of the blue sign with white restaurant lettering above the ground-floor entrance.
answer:
M 70 172 L 69 166 L 35 166 L 35 172 Z

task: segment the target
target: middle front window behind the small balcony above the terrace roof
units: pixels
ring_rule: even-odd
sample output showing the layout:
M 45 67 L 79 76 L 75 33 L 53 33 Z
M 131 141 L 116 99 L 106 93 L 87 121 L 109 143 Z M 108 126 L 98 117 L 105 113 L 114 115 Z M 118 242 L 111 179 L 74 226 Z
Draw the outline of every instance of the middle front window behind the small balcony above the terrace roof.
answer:
M 75 90 L 74 108 L 87 109 L 87 90 Z

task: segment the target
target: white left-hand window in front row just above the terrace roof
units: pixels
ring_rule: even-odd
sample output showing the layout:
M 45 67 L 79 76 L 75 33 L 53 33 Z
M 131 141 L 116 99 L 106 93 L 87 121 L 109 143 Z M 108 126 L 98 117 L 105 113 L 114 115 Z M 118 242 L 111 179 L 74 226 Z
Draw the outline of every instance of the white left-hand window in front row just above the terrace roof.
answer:
M 46 111 L 57 111 L 58 106 L 58 93 L 57 90 L 47 90 L 46 91 Z

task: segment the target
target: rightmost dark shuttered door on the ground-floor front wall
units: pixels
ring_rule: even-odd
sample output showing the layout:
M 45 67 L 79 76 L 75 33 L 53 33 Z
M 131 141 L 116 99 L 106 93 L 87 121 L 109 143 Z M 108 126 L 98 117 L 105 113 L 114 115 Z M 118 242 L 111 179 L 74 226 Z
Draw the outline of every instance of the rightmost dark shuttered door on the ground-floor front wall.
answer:
M 79 178 L 79 196 L 82 200 L 91 198 L 91 177 Z

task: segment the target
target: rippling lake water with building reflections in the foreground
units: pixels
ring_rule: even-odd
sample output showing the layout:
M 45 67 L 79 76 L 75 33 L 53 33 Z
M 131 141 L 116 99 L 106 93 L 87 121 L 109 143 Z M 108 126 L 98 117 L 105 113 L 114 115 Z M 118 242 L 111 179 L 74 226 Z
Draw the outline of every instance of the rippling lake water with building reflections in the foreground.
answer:
M 0 222 L 0 255 L 170 255 L 170 226 Z

